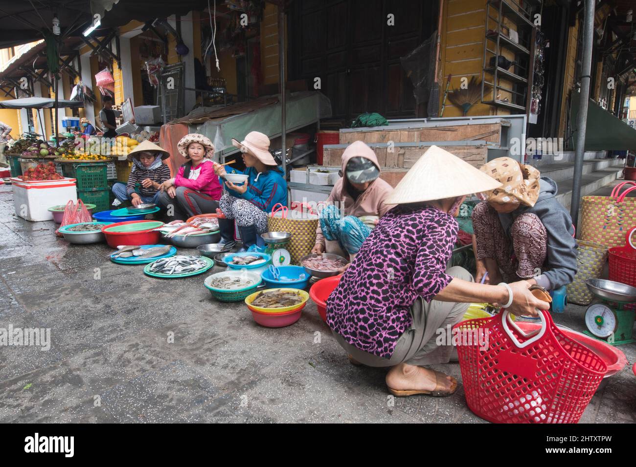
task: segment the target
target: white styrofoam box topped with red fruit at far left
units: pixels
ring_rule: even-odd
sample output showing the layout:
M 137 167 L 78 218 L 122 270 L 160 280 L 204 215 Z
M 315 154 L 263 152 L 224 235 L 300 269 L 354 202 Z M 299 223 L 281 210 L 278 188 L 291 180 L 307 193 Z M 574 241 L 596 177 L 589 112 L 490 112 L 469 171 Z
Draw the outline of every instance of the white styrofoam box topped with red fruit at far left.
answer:
M 76 179 L 25 182 L 11 179 L 15 213 L 22 219 L 39 222 L 53 219 L 51 206 L 66 205 L 78 200 Z

